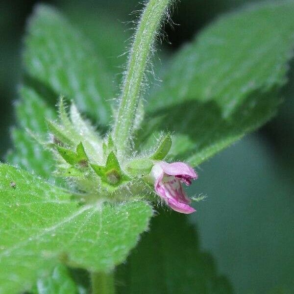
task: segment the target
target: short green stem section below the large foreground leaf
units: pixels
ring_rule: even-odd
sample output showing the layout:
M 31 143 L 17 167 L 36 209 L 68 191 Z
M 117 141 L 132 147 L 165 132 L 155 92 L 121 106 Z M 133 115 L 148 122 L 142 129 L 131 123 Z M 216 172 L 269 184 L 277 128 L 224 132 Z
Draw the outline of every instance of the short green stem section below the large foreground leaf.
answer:
M 92 294 L 115 294 L 114 273 L 92 272 Z

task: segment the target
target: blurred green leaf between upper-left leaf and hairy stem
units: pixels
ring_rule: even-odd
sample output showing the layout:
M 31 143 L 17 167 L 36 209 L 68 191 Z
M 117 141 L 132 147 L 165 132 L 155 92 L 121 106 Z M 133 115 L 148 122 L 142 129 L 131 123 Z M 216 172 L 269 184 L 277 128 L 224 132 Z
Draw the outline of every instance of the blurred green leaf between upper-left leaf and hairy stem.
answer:
M 99 2 L 91 7 L 87 7 L 85 3 L 69 1 L 63 5 L 68 18 L 91 40 L 96 52 L 103 58 L 107 70 L 112 73 L 113 78 L 117 77 L 119 82 L 126 64 L 127 54 L 124 53 L 130 47 L 128 40 L 132 31 L 119 20 L 116 15 L 118 11 L 110 12 L 107 8 L 110 10 L 108 3 L 105 11 L 105 7 L 103 10 Z

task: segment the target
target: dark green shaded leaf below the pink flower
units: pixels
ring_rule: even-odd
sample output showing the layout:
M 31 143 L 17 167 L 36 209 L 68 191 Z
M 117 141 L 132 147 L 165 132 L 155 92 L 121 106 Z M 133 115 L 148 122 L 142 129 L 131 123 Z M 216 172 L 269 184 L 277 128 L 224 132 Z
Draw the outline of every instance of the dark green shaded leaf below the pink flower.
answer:
M 126 264 L 117 271 L 119 294 L 229 294 L 228 281 L 199 247 L 187 217 L 160 212 Z

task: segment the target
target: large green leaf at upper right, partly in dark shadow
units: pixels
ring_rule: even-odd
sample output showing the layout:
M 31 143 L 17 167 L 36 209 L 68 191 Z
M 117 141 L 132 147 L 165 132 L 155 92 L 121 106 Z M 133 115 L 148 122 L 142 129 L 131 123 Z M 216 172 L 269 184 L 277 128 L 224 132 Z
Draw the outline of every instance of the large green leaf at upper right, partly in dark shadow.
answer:
M 174 132 L 177 159 L 198 165 L 275 114 L 293 56 L 293 15 L 293 1 L 251 5 L 176 54 L 147 105 L 151 118 L 160 116 L 157 129 Z

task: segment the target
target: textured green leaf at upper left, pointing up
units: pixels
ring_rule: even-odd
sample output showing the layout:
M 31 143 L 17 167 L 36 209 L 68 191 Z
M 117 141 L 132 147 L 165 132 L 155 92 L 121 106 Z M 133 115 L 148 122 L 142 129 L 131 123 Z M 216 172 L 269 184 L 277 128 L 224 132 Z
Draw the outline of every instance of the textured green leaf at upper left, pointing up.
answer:
M 38 5 L 30 19 L 24 52 L 30 80 L 73 99 L 99 123 L 109 123 L 112 83 L 93 45 L 59 12 Z M 54 98 L 55 98 L 54 97 Z

